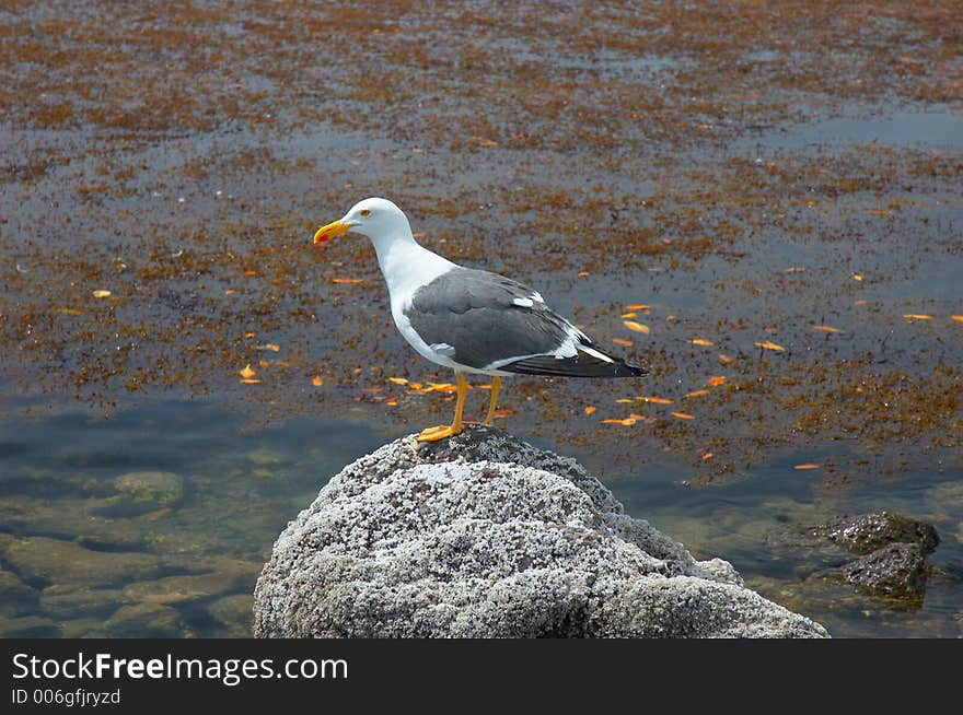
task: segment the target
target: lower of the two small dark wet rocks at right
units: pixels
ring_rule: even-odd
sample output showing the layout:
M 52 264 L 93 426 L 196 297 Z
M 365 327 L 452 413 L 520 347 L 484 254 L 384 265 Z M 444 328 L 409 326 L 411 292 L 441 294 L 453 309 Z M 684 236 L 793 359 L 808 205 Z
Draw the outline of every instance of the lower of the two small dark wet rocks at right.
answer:
M 921 601 L 926 559 L 919 544 L 891 543 L 843 567 L 847 582 L 870 596 Z

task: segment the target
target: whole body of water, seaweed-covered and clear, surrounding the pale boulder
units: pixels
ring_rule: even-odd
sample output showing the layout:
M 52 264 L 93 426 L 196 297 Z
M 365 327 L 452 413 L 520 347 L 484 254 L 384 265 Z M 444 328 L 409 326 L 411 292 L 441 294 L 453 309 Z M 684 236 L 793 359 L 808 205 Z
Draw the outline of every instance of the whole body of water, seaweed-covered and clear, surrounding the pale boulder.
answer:
M 836 635 L 961 635 L 961 22 L 928 0 L 0 11 L 0 634 L 245 635 L 287 520 L 448 417 L 397 383 L 451 375 L 397 336 L 370 246 L 311 246 L 380 195 L 650 368 L 518 378 L 500 426 Z M 917 607 L 825 577 L 844 556 L 811 527 L 879 509 L 940 531 Z

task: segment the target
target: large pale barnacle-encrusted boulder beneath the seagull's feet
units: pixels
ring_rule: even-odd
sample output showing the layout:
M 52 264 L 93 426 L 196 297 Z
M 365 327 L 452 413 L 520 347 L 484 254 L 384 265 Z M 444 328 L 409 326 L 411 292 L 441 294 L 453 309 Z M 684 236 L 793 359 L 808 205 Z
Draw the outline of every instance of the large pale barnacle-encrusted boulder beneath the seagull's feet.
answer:
M 341 470 L 278 538 L 254 613 L 259 637 L 827 635 L 575 460 L 478 426 Z

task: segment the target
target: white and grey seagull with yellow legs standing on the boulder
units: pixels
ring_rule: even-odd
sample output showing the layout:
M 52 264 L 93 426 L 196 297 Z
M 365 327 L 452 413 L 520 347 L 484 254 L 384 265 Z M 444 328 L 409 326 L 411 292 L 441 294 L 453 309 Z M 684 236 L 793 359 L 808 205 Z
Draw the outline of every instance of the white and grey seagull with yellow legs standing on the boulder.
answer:
M 559 377 L 641 377 L 647 371 L 600 350 L 571 323 L 552 312 L 537 291 L 510 278 L 465 268 L 415 241 L 408 218 L 387 199 L 359 201 L 341 219 L 322 226 L 314 244 L 348 232 L 367 236 L 387 284 L 395 326 L 433 363 L 457 379 L 451 424 L 428 427 L 419 442 L 462 432 L 465 373 L 491 376 L 488 413 L 495 420 L 501 378 L 513 374 Z

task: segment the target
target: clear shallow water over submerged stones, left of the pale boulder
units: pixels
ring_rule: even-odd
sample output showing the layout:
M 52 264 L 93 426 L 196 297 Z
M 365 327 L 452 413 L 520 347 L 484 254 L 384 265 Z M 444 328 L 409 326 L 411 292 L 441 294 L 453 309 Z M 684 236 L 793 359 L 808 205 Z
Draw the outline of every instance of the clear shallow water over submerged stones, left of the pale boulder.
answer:
M 274 539 L 383 439 L 345 420 L 251 431 L 217 400 L 39 414 L 0 437 L 5 636 L 248 636 Z

